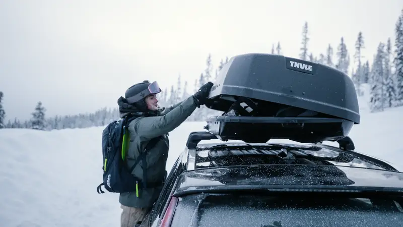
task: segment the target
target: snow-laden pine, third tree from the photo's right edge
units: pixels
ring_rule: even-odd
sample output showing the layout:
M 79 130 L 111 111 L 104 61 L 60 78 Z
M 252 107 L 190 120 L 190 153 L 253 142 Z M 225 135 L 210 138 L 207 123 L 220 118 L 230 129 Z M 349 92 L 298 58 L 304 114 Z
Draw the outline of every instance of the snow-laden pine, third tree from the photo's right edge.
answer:
M 370 106 L 371 111 L 383 110 L 384 106 L 384 47 L 385 45 L 380 42 L 372 64 L 371 71 L 371 89 L 370 89 Z

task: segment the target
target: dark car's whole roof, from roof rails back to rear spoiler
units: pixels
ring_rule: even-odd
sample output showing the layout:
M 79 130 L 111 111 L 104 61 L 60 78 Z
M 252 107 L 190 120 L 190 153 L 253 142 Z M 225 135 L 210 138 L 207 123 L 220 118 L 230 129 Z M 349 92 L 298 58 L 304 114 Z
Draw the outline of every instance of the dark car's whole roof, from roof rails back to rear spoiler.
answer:
M 278 156 L 282 151 L 296 160 L 283 161 Z M 321 143 L 198 144 L 185 149 L 182 162 L 186 162 L 186 171 L 177 179 L 176 195 L 195 189 L 273 189 L 279 185 L 403 190 L 403 173 L 390 164 Z

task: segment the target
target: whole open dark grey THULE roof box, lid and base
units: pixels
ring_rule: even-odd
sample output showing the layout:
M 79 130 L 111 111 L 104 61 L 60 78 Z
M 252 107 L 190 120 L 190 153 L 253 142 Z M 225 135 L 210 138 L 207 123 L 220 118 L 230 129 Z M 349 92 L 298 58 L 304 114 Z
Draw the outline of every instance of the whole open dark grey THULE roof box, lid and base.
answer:
M 224 65 L 207 106 L 218 138 L 266 142 L 339 140 L 360 123 L 354 84 L 343 72 L 282 55 L 249 53 Z

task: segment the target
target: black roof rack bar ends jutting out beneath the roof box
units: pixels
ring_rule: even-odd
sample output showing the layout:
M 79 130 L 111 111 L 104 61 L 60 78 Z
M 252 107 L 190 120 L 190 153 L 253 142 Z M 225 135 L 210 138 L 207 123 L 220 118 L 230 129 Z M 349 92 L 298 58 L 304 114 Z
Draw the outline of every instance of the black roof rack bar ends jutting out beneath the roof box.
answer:
M 188 149 L 195 149 L 200 141 L 212 140 L 212 139 L 219 139 L 219 138 L 216 135 L 213 135 L 212 133 L 207 131 L 191 132 L 187 138 L 186 147 Z M 353 151 L 355 149 L 354 142 L 349 136 L 336 140 L 335 142 L 339 143 L 339 148 L 342 150 Z M 322 141 L 320 143 L 322 143 Z

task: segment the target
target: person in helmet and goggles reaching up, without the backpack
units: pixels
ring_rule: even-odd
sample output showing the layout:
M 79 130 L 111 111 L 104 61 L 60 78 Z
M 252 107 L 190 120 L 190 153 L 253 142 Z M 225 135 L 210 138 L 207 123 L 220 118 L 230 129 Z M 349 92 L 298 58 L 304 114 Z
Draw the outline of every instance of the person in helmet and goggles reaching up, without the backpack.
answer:
M 144 81 L 129 87 L 125 97 L 118 99 L 120 118 L 133 118 L 128 125 L 130 142 L 126 151 L 125 163 L 131 169 L 136 158 L 145 150 L 147 143 L 153 142 L 145 158 L 136 165 L 132 175 L 140 178 L 136 192 L 120 193 L 119 203 L 122 209 L 121 227 L 133 227 L 141 223 L 158 199 L 166 178 L 166 162 L 169 150 L 168 133 L 182 124 L 200 105 L 208 100 L 212 82 L 187 99 L 168 108 L 159 108 L 156 94 L 161 92 L 158 83 Z M 143 164 L 146 167 L 143 169 Z M 133 182 L 134 184 L 134 182 Z

